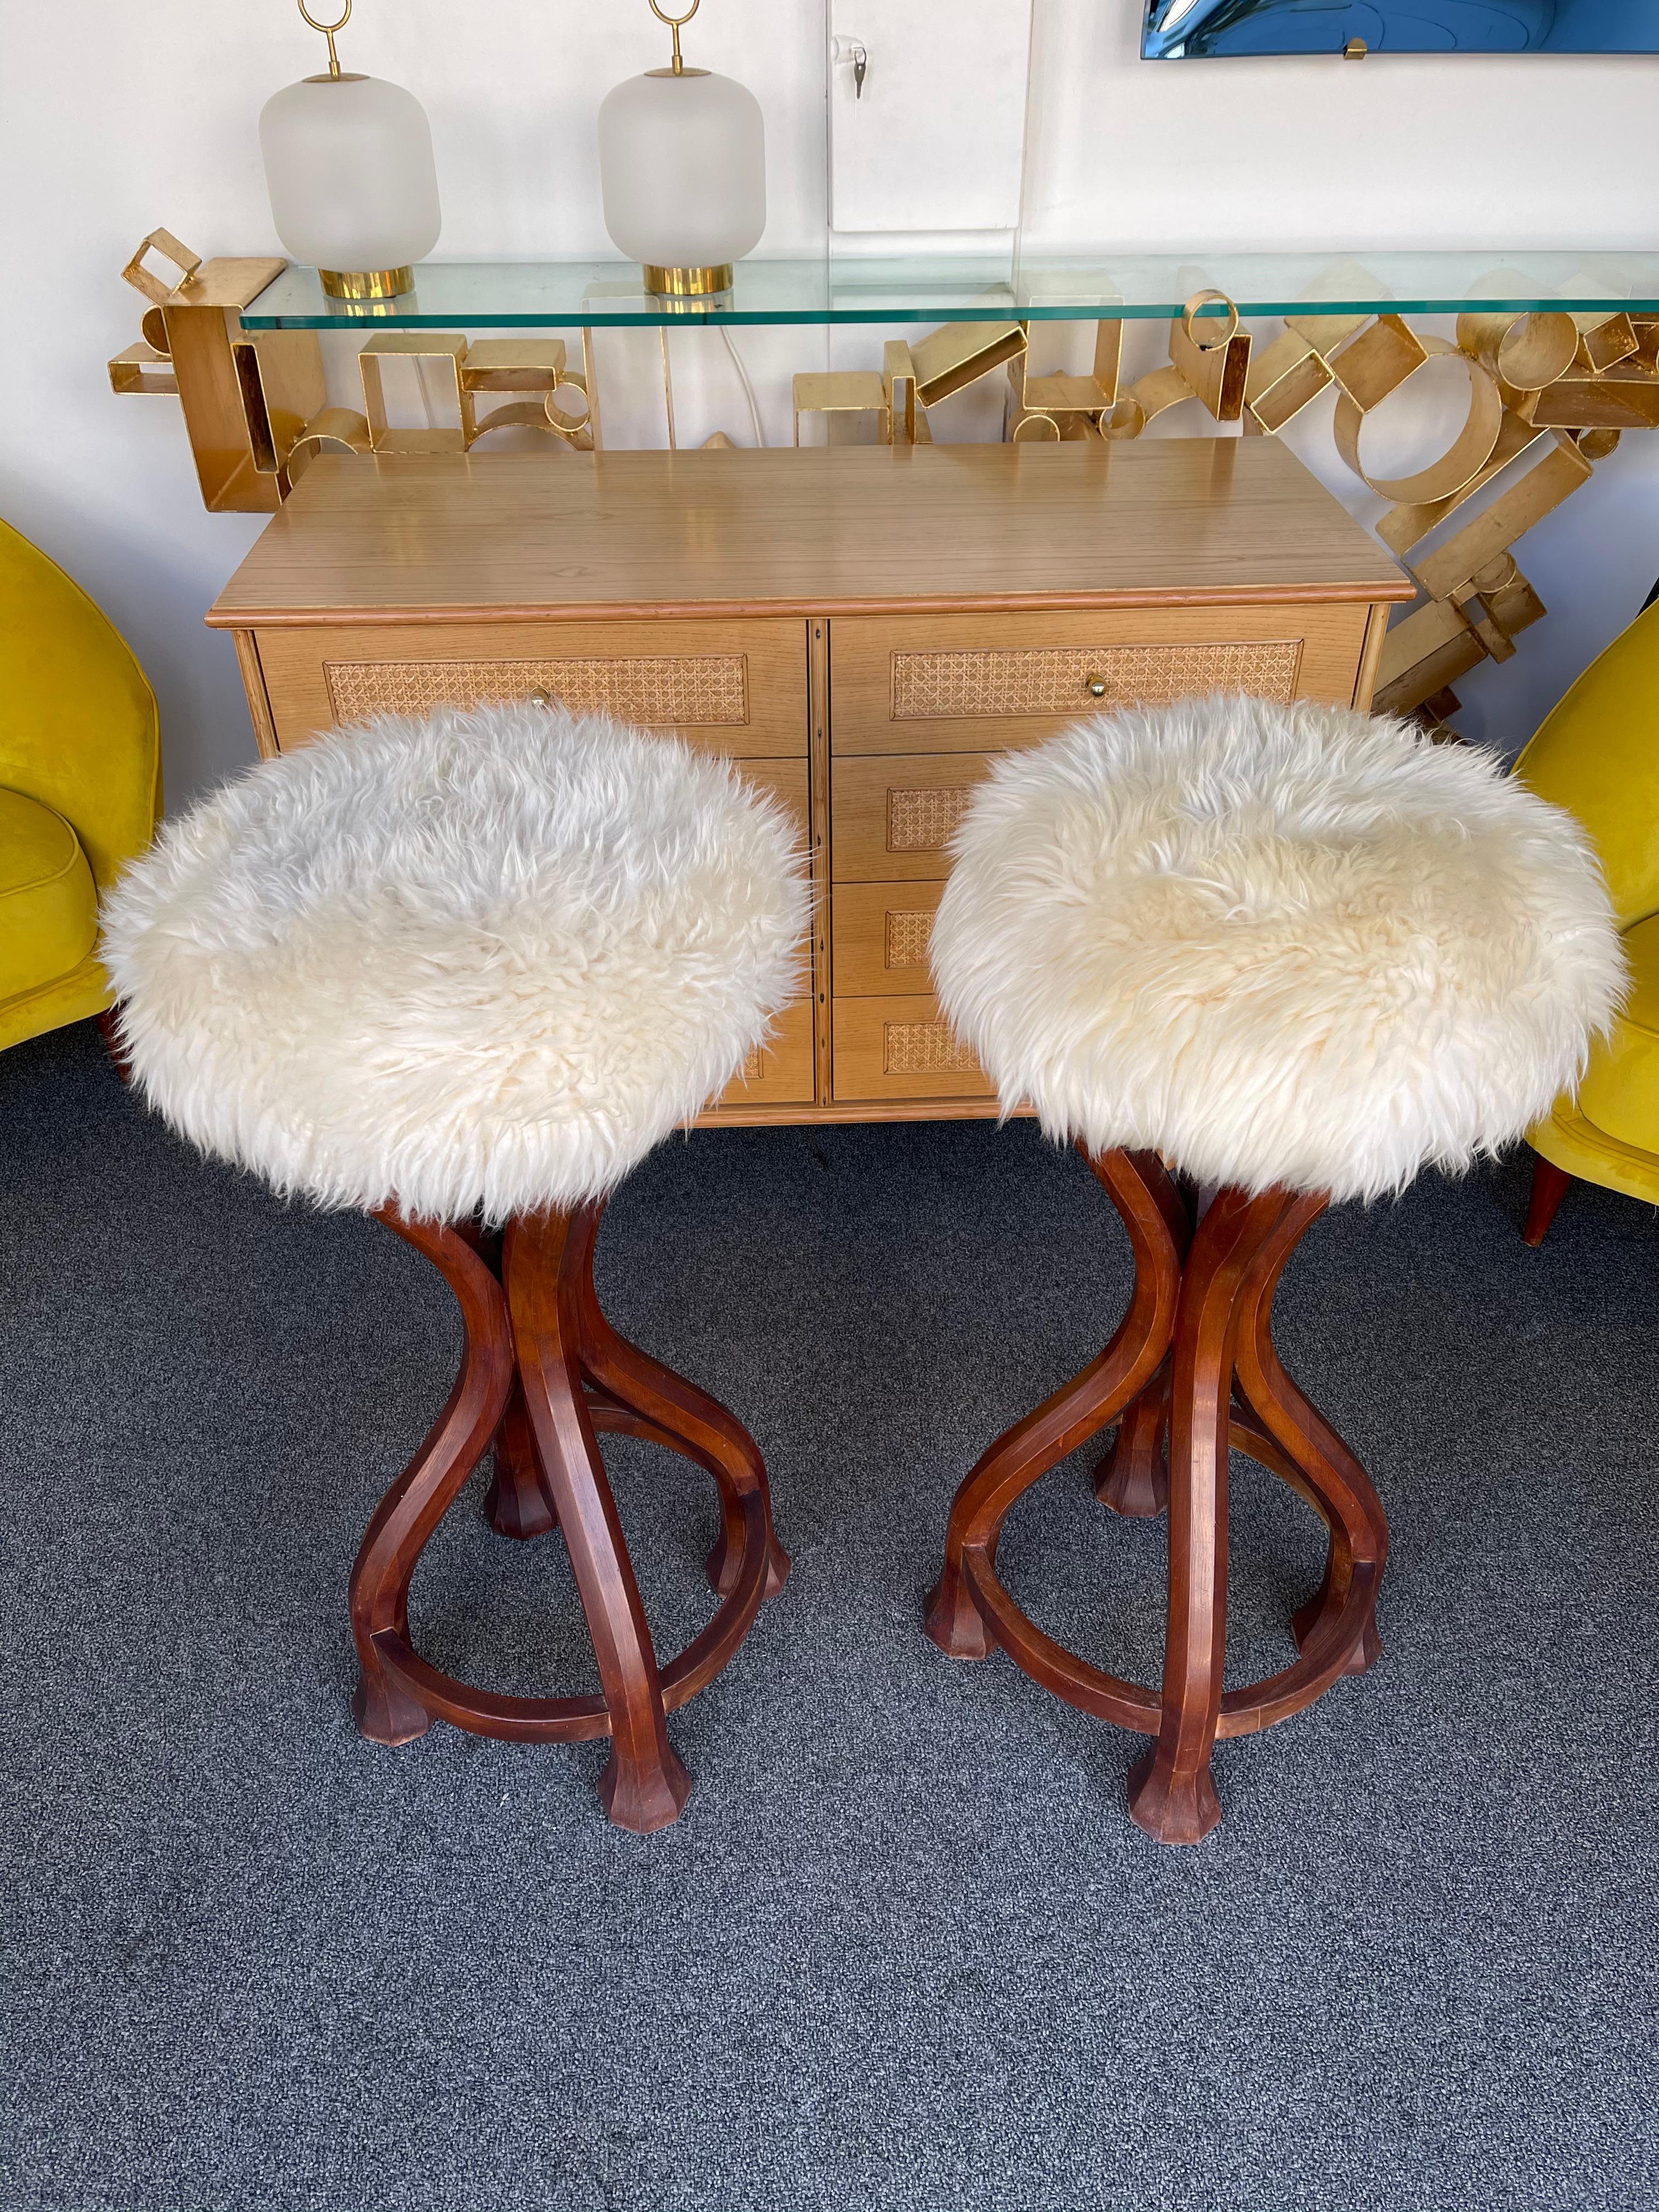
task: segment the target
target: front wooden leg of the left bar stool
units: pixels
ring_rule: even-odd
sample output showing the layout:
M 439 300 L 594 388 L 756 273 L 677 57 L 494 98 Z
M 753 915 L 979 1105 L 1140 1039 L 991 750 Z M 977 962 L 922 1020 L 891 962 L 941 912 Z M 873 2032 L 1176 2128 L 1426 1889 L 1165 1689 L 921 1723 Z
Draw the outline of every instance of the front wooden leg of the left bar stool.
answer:
M 566 1243 L 593 1250 L 602 1206 L 529 1214 L 507 1225 L 507 1305 L 535 1451 L 546 1469 L 564 1544 L 588 1617 L 611 1714 L 611 1761 L 599 1798 L 617 1827 L 648 1834 L 677 1820 L 690 1774 L 668 1743 L 657 1652 L 617 1520 L 582 1389 L 582 1312 Z M 582 1245 L 577 1243 L 580 1261 Z

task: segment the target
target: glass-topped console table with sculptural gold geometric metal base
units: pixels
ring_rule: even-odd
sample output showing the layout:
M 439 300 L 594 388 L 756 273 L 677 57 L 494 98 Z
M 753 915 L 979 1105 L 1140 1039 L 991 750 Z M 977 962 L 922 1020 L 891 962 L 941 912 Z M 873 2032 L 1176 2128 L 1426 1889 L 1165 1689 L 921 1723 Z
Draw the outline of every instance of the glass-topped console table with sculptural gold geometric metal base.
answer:
M 181 274 L 161 279 L 148 257 Z M 1214 427 L 1274 436 L 1334 396 L 1336 447 L 1387 502 L 1376 535 L 1422 593 L 1383 641 L 1376 697 L 1429 728 L 1455 712 L 1460 675 L 1509 659 L 1544 615 L 1513 544 L 1624 431 L 1659 427 L 1659 252 L 1637 250 L 821 257 L 743 261 L 710 299 L 657 299 L 624 261 L 427 261 L 400 299 L 352 303 L 327 299 L 316 270 L 204 263 L 153 232 L 124 274 L 150 310 L 111 380 L 179 394 L 210 509 L 270 513 L 325 451 L 396 465 L 467 453 L 507 429 L 593 451 L 602 330 L 887 325 L 880 369 L 794 378 L 796 440 L 801 416 L 841 411 L 874 418 L 885 445 L 927 445 L 933 405 L 987 376 L 1006 376 L 1013 442 L 1110 445 L 1188 400 Z M 1416 330 L 1409 319 L 1422 316 L 1455 316 L 1455 343 Z M 1042 323 L 1095 325 L 1088 374 L 1029 374 Z M 1133 383 L 1119 374 L 1130 323 L 1164 323 L 1170 356 Z M 580 332 L 580 365 L 564 330 Z M 361 411 L 330 405 L 323 332 L 361 341 Z M 436 367 L 442 420 L 422 380 L 427 427 L 389 422 L 389 356 Z M 1436 356 L 1467 374 L 1467 418 L 1427 467 L 1385 476 L 1365 449 L 1367 416 Z M 664 396 L 672 445 L 666 336 Z M 732 445 L 719 431 L 710 442 Z

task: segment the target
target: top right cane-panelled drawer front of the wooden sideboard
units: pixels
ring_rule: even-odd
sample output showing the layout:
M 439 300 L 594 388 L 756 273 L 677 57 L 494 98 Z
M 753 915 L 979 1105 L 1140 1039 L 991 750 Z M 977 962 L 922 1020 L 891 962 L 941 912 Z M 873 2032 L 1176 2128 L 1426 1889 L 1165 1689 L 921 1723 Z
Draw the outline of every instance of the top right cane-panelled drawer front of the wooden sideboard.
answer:
M 1354 703 L 1367 606 L 883 615 L 832 624 L 834 750 L 995 752 L 1201 692 Z

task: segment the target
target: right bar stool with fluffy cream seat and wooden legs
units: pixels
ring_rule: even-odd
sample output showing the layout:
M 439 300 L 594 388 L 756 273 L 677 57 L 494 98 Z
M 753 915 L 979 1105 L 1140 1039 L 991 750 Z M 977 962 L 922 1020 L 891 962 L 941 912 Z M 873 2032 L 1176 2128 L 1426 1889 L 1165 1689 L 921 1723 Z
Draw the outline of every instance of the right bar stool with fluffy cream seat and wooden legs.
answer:
M 927 1632 L 953 1659 L 1002 1646 L 1055 1697 L 1150 1736 L 1130 1816 L 1197 1843 L 1221 1818 L 1217 1736 L 1378 1657 L 1387 1522 L 1274 1352 L 1274 1285 L 1332 1201 L 1467 1168 L 1571 1091 L 1624 991 L 1601 869 L 1491 754 L 1345 708 L 1192 699 L 998 761 L 931 956 L 1004 1115 L 1029 1102 L 1115 1201 L 1135 1292 L 1099 1358 L 962 1482 Z M 1013 1502 L 1110 1422 L 1104 1502 L 1168 1498 L 1157 1690 L 1064 1650 L 995 1571 Z M 1329 1531 L 1290 1624 L 1301 1655 L 1234 1690 L 1228 1451 Z

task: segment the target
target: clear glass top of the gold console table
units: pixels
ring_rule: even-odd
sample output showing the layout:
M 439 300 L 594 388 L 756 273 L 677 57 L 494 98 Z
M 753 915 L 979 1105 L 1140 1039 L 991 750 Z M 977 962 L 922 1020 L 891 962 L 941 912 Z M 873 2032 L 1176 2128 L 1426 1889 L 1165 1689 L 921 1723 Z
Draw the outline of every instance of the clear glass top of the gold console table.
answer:
M 1095 254 L 1077 259 L 741 261 L 730 292 L 655 299 L 628 261 L 422 261 L 396 301 L 327 299 L 288 268 L 250 330 L 555 330 L 659 323 L 1164 321 L 1194 292 L 1243 316 L 1619 307 L 1659 316 L 1659 252 Z M 1214 310 L 1223 312 L 1223 310 Z

